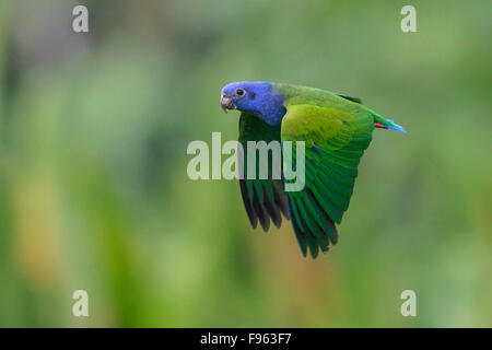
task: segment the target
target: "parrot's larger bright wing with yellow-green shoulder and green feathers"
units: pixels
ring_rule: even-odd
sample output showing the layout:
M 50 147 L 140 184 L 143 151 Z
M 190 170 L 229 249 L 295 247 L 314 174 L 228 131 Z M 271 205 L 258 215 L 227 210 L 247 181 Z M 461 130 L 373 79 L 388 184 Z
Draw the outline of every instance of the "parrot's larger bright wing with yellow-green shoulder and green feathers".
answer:
M 374 130 L 367 110 L 354 113 L 315 105 L 290 105 L 282 120 L 282 141 L 305 142 L 305 187 L 289 191 L 295 235 L 304 255 L 316 257 L 337 243 L 337 229 L 348 209 L 358 166 Z M 295 145 L 295 142 L 293 142 Z M 292 151 L 295 168 L 296 152 Z M 290 165 L 289 160 L 284 160 Z

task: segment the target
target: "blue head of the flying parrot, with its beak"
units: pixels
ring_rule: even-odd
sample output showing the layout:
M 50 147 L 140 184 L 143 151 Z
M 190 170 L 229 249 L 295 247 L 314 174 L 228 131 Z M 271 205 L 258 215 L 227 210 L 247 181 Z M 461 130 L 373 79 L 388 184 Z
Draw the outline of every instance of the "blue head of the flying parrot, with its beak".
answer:
M 242 81 L 225 85 L 221 107 L 251 114 L 269 125 L 279 125 L 285 115 L 283 97 L 273 85 L 263 81 Z

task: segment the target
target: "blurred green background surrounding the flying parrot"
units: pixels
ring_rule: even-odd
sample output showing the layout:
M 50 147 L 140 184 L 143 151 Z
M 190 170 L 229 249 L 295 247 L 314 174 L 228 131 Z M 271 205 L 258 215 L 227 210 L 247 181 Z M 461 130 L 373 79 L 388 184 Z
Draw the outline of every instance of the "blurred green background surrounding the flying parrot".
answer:
M 492 326 L 491 10 L 1 1 L 0 326 Z M 236 182 L 187 177 L 190 141 L 237 137 L 219 96 L 238 80 L 360 96 L 409 131 L 375 131 L 316 260 L 290 224 L 250 229 Z

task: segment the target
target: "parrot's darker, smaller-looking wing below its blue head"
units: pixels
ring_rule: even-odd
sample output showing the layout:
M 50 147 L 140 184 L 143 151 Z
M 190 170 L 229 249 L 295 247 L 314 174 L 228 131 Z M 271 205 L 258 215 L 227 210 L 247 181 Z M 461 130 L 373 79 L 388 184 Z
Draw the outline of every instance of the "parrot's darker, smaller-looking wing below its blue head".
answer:
M 248 141 L 280 142 L 280 126 L 272 127 L 257 117 L 242 113 L 239 118 L 239 142 L 243 144 L 244 154 L 237 153 L 239 158 L 239 174 L 244 174 L 244 178 L 239 179 L 241 195 L 253 228 L 256 229 L 259 220 L 263 231 L 268 231 L 270 219 L 276 226 L 280 228 L 282 223 L 281 213 L 289 219 L 288 198 L 283 190 L 282 179 L 274 179 L 272 176 L 271 152 L 268 154 L 268 164 L 262 164 L 268 166 L 268 177 L 266 179 L 259 178 L 259 152 L 257 149 L 249 151 L 247 147 Z M 254 179 L 248 178 L 247 174 L 248 152 L 257 153 Z

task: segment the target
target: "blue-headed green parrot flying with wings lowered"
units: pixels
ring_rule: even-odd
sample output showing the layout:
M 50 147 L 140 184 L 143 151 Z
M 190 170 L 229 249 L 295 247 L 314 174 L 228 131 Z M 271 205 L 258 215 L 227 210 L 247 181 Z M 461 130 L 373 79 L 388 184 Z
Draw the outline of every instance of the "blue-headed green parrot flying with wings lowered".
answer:
M 226 84 L 221 91 L 221 107 L 225 113 L 241 112 L 238 142 L 244 154 L 238 165 L 243 168 L 247 166 L 248 141 L 304 141 L 302 190 L 285 191 L 283 176 L 239 177 L 239 188 L 254 229 L 259 222 L 268 232 L 270 221 L 280 228 L 283 215 L 292 223 L 303 256 L 309 252 L 313 259 L 338 241 L 337 225 L 349 208 L 358 166 L 373 130 L 407 132 L 358 97 L 286 83 Z M 295 156 L 292 152 L 294 164 Z

